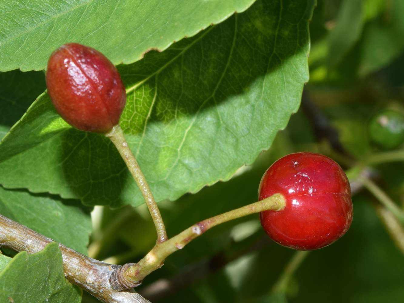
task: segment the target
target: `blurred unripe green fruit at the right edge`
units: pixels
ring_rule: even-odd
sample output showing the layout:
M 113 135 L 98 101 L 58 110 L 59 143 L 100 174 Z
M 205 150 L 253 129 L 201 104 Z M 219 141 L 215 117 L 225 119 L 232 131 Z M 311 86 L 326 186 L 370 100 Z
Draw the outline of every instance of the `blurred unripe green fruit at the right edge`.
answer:
M 404 142 L 404 117 L 393 110 L 383 110 L 368 125 L 373 143 L 382 149 L 394 149 Z

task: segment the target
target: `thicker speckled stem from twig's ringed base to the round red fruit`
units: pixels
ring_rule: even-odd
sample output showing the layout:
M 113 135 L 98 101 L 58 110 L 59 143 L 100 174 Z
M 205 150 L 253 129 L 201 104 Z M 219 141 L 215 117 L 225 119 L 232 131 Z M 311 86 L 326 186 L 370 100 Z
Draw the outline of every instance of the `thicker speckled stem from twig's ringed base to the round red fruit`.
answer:
M 285 207 L 285 198 L 281 194 L 274 194 L 261 201 L 230 210 L 227 213 L 200 221 L 173 238 L 156 243 L 154 248 L 138 263 L 128 263 L 116 269 L 111 275 L 111 285 L 116 290 L 125 290 L 141 284 L 142 280 L 152 271 L 160 268 L 166 257 L 173 252 L 182 249 L 196 237 L 202 235 L 208 229 L 221 223 L 259 213 L 264 210 L 282 210 Z

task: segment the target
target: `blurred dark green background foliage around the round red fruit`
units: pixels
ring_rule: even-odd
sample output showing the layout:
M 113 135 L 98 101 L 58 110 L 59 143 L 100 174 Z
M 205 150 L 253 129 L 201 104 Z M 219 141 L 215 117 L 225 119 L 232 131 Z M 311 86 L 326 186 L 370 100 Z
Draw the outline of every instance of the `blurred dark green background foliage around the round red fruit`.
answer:
M 334 158 L 347 171 L 353 190 L 351 228 L 331 246 L 295 252 L 271 242 L 258 215 L 223 224 L 170 256 L 144 280 L 138 290 L 152 302 L 403 300 L 404 149 L 401 139 L 394 148 L 388 142 L 401 138 L 404 126 L 398 122 L 396 130 L 386 131 L 379 113 L 404 115 L 404 1 L 318 0 L 310 35 L 310 81 L 301 108 L 271 149 L 230 181 L 159 205 L 173 236 L 202 219 L 255 202 L 261 176 L 272 162 L 291 152 L 313 151 Z M 376 119 L 380 129 L 375 130 L 369 122 L 378 114 L 384 118 Z M 387 145 L 374 140 L 380 137 L 377 132 Z M 93 219 L 93 257 L 133 262 L 154 244 L 144 205 L 96 206 Z M 84 295 L 83 302 L 95 299 Z

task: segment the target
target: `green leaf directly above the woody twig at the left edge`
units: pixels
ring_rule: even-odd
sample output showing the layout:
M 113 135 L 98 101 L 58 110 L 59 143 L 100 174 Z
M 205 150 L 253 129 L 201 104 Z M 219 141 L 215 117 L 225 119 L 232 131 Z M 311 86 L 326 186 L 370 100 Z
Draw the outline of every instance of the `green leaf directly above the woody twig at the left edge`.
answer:
M 40 234 L 87 253 L 91 219 L 77 200 L 62 200 L 49 194 L 7 190 L 0 186 L 0 213 Z

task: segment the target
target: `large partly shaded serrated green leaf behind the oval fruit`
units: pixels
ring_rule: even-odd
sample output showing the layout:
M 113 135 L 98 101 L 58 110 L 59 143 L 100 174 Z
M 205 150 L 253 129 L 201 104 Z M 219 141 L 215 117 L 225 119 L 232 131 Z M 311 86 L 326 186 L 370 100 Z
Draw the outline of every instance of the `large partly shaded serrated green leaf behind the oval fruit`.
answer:
M 128 92 L 121 125 L 156 200 L 227 180 L 271 146 L 308 80 L 313 6 L 258 1 L 163 53 L 119 66 Z M 0 182 L 88 205 L 142 204 L 111 143 L 61 121 L 42 95 L 0 145 Z

